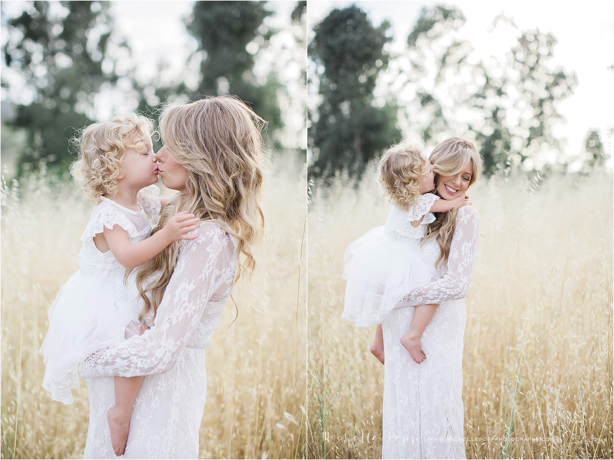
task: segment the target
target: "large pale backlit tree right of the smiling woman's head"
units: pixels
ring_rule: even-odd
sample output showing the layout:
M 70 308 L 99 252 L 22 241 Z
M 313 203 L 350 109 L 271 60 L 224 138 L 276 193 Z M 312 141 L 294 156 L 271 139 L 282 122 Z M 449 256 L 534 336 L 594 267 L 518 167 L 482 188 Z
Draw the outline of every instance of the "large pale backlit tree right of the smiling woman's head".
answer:
M 539 29 L 521 31 L 510 18 L 495 18 L 491 33 L 507 29 L 515 36 L 505 59 L 480 64 L 483 85 L 469 103 L 484 158 L 484 174 L 531 164 L 543 150 L 561 150 L 553 126 L 563 120 L 558 105 L 573 93 L 573 72 L 552 63 L 556 38 Z

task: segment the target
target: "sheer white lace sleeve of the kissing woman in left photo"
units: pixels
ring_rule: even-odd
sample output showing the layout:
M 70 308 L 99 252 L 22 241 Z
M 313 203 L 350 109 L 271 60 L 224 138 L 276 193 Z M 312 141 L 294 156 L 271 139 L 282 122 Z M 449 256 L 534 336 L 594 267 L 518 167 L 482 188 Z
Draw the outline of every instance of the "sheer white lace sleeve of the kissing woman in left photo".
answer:
M 186 240 L 158 307 L 155 326 L 80 363 L 82 378 L 162 374 L 179 358 L 212 297 L 235 281 L 235 243 L 216 223 L 204 222 L 195 240 Z

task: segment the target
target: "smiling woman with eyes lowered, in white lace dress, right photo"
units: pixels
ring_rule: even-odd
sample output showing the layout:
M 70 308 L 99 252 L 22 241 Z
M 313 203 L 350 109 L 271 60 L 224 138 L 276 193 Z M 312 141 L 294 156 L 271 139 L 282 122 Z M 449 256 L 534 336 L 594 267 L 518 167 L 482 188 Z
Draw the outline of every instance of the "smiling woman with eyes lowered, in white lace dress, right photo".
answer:
M 482 169 L 471 142 L 452 137 L 430 156 L 435 192 L 443 199 L 464 196 Z M 470 205 L 436 213 L 426 236 L 416 240 L 425 261 L 440 274 L 413 289 L 386 316 L 382 458 L 465 458 L 462 405 L 464 296 L 471 280 L 478 237 L 478 214 Z M 440 262 L 442 263 L 440 265 Z M 422 334 L 421 364 L 400 343 L 411 323 L 410 305 L 440 304 Z

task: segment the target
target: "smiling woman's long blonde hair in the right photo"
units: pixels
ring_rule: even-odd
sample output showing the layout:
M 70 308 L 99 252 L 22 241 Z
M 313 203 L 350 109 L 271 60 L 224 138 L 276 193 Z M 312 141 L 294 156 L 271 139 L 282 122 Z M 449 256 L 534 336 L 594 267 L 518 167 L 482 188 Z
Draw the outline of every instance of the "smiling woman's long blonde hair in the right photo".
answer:
M 435 185 L 439 186 L 440 176 L 451 176 L 462 172 L 467 164 L 471 163 L 473 173 L 469 180 L 469 186 L 472 185 L 482 172 L 482 157 L 480 152 L 468 140 L 461 137 L 449 137 L 435 147 L 435 150 L 430 154 L 430 163 L 435 171 Z M 456 216 L 458 210 L 453 208 L 447 212 L 435 212 L 435 221 L 429 224 L 426 236 L 422 238 L 421 245 L 432 238 L 437 239 L 440 248 L 440 254 L 435 261 L 435 266 L 448 261 L 450 254 L 450 245 L 456 229 Z

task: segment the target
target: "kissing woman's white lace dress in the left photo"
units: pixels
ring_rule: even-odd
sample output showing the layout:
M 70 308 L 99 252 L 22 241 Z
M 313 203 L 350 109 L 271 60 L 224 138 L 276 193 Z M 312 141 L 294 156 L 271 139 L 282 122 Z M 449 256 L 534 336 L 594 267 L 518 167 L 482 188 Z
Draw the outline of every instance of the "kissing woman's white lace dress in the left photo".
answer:
M 115 403 L 114 375 L 144 379 L 122 458 L 198 458 L 206 395 L 204 349 L 235 283 L 235 237 L 214 221 L 182 240 L 153 327 L 98 350 L 79 366 L 87 378 L 90 426 L 84 458 L 116 458 L 106 413 Z

